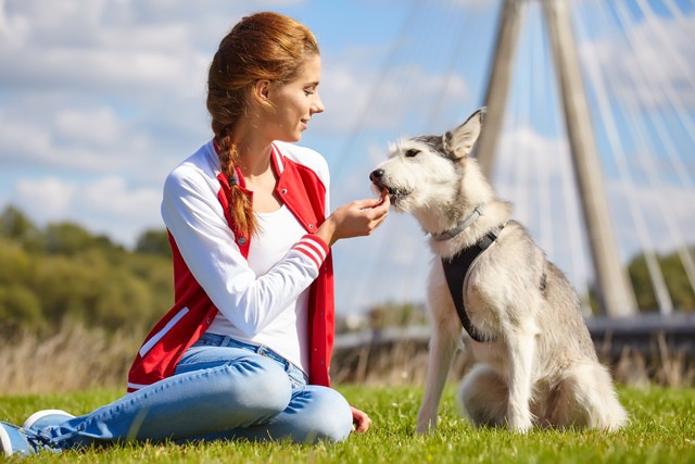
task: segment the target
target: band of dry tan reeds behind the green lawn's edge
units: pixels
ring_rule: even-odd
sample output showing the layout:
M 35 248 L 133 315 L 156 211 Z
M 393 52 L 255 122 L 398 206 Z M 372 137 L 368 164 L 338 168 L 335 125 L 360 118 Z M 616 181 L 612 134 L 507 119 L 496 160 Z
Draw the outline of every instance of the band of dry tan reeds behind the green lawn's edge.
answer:
M 125 388 L 127 371 L 142 341 L 140 333 L 106 334 L 78 324 L 63 324 L 53 335 L 25 333 L 0 341 L 0 394 L 55 393 L 92 387 Z M 616 381 L 645 387 L 695 387 L 695 364 L 684 351 L 656 336 L 649 350 L 616 347 L 605 340 L 597 346 L 602 361 L 610 365 Z M 471 366 L 458 352 L 450 374 L 457 380 Z M 422 385 L 427 371 L 427 342 L 402 340 L 363 344 L 336 351 L 333 384 Z

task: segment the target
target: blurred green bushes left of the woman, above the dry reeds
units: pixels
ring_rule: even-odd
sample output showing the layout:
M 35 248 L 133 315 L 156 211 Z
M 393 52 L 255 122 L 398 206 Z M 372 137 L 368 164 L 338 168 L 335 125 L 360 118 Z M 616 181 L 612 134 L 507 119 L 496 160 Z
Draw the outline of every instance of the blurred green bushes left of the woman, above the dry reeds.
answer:
M 73 223 L 31 224 L 0 214 L 0 333 L 41 331 L 64 319 L 109 331 L 149 328 L 174 297 L 166 230 L 129 251 Z

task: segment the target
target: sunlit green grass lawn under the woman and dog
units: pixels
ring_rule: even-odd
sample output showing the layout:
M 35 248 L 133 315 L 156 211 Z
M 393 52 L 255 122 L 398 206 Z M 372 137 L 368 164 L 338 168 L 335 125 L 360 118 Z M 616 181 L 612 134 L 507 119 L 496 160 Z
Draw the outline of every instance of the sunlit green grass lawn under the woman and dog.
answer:
M 23 462 L 146 463 L 695 463 L 695 390 L 621 388 L 630 426 L 615 434 L 535 430 L 516 435 L 473 429 L 458 418 L 454 387 L 440 407 L 438 431 L 414 435 L 422 397 L 417 387 L 341 386 L 350 402 L 372 418 L 372 428 L 344 443 L 212 442 L 189 446 L 132 443 L 102 450 L 42 453 Z M 22 423 L 36 410 L 86 413 L 118 397 L 115 390 L 0 397 L 0 418 Z

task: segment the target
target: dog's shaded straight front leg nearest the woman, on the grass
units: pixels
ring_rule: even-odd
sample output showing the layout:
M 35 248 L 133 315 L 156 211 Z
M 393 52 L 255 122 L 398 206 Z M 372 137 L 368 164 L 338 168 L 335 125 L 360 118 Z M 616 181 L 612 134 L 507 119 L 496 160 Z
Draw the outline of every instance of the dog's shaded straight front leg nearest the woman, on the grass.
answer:
M 444 321 L 434 322 L 429 346 L 425 398 L 417 415 L 418 434 L 429 434 L 437 428 L 439 402 L 459 343 L 460 325 L 456 318 L 450 319 L 447 324 Z

